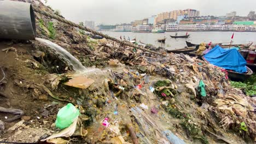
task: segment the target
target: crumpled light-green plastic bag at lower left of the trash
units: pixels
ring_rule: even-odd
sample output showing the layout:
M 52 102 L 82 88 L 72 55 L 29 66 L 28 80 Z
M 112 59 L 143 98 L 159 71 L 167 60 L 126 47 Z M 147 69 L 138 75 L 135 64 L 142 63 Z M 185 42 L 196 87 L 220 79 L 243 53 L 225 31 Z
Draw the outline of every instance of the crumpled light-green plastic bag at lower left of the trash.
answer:
M 71 103 L 62 107 L 57 113 L 57 119 L 55 121 L 56 128 L 67 128 L 74 122 L 74 119 L 79 116 L 79 110 Z

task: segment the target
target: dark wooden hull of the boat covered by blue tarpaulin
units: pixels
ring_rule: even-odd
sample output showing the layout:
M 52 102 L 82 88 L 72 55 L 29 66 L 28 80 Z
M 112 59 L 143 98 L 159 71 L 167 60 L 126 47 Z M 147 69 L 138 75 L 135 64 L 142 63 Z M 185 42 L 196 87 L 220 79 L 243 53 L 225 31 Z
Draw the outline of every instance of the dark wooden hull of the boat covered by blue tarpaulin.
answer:
M 204 57 L 202 57 L 203 61 L 206 61 L 207 63 L 209 63 Z M 248 79 L 249 77 L 252 76 L 253 74 L 253 71 L 248 68 L 246 66 L 246 69 L 247 69 L 247 73 L 237 73 L 235 71 L 232 71 L 232 70 L 226 70 L 228 71 L 228 76 L 229 76 L 229 79 L 232 80 L 232 81 L 245 81 L 246 79 Z

